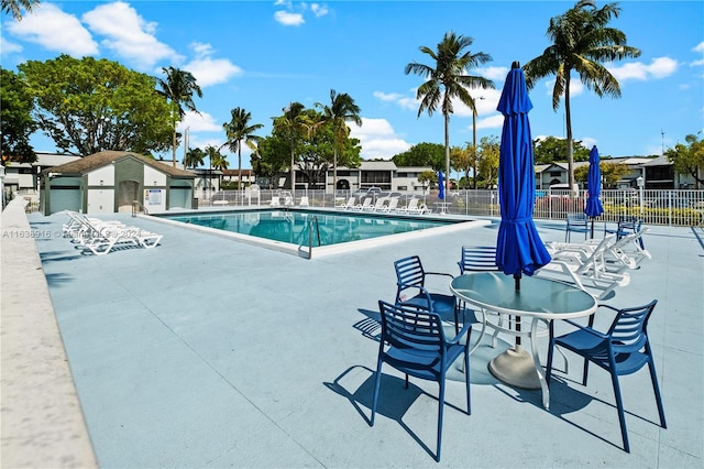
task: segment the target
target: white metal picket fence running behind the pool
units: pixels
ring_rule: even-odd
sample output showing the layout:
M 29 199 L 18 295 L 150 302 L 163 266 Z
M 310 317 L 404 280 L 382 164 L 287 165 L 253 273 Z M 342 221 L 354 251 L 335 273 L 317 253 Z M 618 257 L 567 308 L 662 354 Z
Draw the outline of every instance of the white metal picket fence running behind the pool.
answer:
M 338 190 L 333 196 L 322 190 L 220 190 L 209 198 L 201 198 L 199 207 L 209 206 L 270 206 L 278 197 L 280 206 L 300 205 L 301 197 L 308 198 L 311 207 L 332 208 L 344 204 L 353 195 L 349 190 Z M 381 193 L 381 196 L 399 197 L 398 207 L 407 205 L 410 198 L 420 198 L 433 211 L 440 210 L 438 192 L 425 196 L 404 193 Z M 566 190 L 536 193 L 534 218 L 564 220 L 566 214 L 584 211 L 584 192 L 578 198 L 570 198 Z M 376 196 L 378 197 L 378 196 Z M 602 190 L 604 214 L 601 221 L 617 221 L 619 216 L 642 218 L 647 225 L 701 226 L 704 222 L 704 190 Z M 355 200 L 358 204 L 361 200 Z M 498 217 L 498 193 L 496 190 L 451 192 L 443 200 L 449 205 L 446 211 L 455 215 Z

